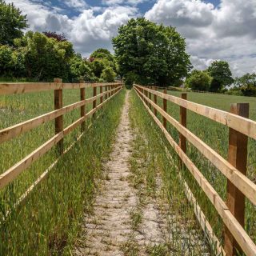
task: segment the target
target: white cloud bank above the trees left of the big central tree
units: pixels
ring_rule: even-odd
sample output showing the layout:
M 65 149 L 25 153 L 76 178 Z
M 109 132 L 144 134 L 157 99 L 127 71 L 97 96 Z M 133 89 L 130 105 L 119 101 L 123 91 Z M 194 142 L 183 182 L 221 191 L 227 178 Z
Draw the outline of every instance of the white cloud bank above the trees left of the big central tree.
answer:
M 132 6 L 110 6 L 104 9 L 85 9 L 78 17 L 69 18 L 49 6 L 30 2 L 30 0 L 7 0 L 6 2 L 14 2 L 15 6 L 27 14 L 29 30 L 65 33 L 74 43 L 75 50 L 86 56 L 98 47 L 111 50 L 111 39 L 118 33 L 118 27 L 135 17 L 138 12 Z M 94 10 L 103 12 L 96 15 Z

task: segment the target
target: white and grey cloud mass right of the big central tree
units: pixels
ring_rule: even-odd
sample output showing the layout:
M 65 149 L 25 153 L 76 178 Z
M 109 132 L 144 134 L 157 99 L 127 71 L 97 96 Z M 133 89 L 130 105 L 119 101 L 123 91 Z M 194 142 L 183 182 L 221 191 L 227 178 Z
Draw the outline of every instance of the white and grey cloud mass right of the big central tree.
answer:
M 255 70 L 255 0 L 222 0 L 218 8 L 201 0 L 158 0 L 145 17 L 177 27 L 196 68 L 225 59 L 234 75 Z

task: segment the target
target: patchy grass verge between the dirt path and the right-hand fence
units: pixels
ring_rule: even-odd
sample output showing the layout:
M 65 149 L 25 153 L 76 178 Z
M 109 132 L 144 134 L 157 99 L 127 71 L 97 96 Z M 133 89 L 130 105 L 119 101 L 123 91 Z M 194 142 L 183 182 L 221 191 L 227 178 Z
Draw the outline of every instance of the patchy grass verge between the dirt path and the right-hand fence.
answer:
M 147 253 L 150 255 L 202 255 L 210 250 L 210 247 L 194 219 L 193 208 L 186 200 L 177 170 L 166 156 L 165 146 L 168 144 L 134 91 L 131 92 L 131 106 L 131 125 L 138 131 L 130 160 L 131 184 L 138 190 L 140 204 L 143 205 L 149 198 L 156 198 L 157 202 L 161 200 L 160 206 L 167 204 L 167 212 L 164 212 L 164 215 L 168 220 L 168 238 L 159 246 L 149 247 Z M 169 146 L 168 149 L 174 155 Z M 174 162 L 177 161 L 174 155 Z M 158 184 L 158 175 L 162 179 L 162 185 Z M 162 198 L 159 198 L 159 192 L 156 193 L 160 189 L 159 186 L 162 186 L 160 192 Z M 137 215 L 134 215 L 134 223 L 139 225 Z

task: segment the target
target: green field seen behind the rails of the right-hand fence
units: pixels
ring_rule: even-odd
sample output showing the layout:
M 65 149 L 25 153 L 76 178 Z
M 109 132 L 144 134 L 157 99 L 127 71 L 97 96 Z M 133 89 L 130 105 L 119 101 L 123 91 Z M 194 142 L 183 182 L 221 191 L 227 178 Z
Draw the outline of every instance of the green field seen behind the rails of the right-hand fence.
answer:
M 169 94 L 174 96 L 181 96 L 180 92 L 169 91 Z M 188 93 L 187 99 L 192 102 L 197 102 L 206 106 L 211 106 L 220 110 L 230 110 L 231 103 L 250 103 L 250 119 L 256 120 L 256 98 L 248 98 L 242 96 L 233 96 L 225 94 L 199 94 Z M 162 106 L 162 99 L 158 98 L 158 103 Z M 167 112 L 179 120 L 179 106 L 174 103 L 167 103 Z M 158 118 L 162 118 L 158 115 Z M 228 153 L 228 140 L 229 129 L 218 122 L 214 122 L 208 118 L 202 117 L 194 112 L 187 111 L 187 128 L 192 131 L 198 138 L 201 138 L 203 142 L 206 142 L 211 148 L 227 159 Z M 178 132 L 170 124 L 167 125 L 167 130 L 173 136 L 176 142 L 178 142 Z M 249 139 L 248 144 L 248 163 L 247 163 L 247 176 L 253 182 L 256 182 L 256 141 Z M 202 171 L 207 180 L 210 182 L 214 189 L 220 194 L 223 200 L 226 200 L 226 178 L 217 170 L 202 154 L 195 149 L 194 146 L 188 143 L 187 154 L 190 159 L 198 166 L 198 169 Z M 214 210 L 214 206 L 211 205 L 208 198 L 201 189 L 199 189 L 198 183 L 195 182 L 188 170 L 183 171 L 183 176 L 190 185 L 190 189 L 194 192 L 196 198 L 202 210 L 205 212 L 206 217 L 210 220 L 211 226 L 218 234 L 218 238 L 222 241 L 223 223 L 221 218 L 218 217 L 218 213 Z M 248 200 L 246 201 L 246 231 L 250 234 L 256 242 L 256 212 L 255 206 L 253 206 Z

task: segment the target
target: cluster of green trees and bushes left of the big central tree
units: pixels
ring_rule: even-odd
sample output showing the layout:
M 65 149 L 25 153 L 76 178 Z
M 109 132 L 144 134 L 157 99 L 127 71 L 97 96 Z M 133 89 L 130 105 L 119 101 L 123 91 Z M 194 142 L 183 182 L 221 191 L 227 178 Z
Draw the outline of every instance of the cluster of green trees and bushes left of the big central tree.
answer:
M 22 30 L 26 15 L 0 0 L 0 79 L 2 81 L 114 82 L 118 65 L 109 50 L 98 49 L 90 58 L 74 51 L 64 34 Z

